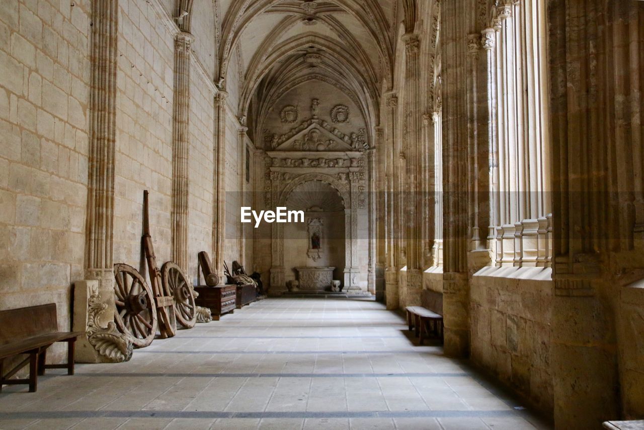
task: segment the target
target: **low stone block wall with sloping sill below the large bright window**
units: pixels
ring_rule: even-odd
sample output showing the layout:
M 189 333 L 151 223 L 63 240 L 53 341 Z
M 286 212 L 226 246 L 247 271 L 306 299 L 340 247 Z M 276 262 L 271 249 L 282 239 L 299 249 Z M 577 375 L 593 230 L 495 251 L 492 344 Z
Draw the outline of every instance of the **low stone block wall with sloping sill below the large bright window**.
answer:
M 549 268 L 484 268 L 471 278 L 471 359 L 534 406 L 553 411 Z

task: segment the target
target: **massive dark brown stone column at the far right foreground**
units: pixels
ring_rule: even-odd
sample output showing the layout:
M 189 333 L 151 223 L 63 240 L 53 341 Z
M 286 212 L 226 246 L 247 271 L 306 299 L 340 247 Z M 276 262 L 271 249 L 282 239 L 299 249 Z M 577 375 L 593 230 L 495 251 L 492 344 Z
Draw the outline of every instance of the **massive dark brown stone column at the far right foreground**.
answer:
M 644 2 L 551 0 L 548 12 L 554 420 L 598 428 L 644 414 L 644 295 L 629 286 L 644 268 Z

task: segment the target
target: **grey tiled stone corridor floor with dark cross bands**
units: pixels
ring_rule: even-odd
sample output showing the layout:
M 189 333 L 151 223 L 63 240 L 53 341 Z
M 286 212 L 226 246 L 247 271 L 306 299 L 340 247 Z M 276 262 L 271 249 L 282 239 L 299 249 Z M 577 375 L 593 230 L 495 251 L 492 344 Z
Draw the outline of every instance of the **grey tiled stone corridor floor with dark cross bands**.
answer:
M 270 298 L 0 395 L 0 429 L 543 429 L 372 300 Z M 21 391 L 21 392 L 19 392 Z

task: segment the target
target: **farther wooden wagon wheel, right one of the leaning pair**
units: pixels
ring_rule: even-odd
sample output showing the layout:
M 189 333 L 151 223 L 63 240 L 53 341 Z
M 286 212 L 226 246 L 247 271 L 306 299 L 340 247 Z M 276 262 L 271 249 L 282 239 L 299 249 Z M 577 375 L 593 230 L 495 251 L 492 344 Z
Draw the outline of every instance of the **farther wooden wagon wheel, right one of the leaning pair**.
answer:
M 168 261 L 161 268 L 161 280 L 166 296 L 175 299 L 176 320 L 185 328 L 197 322 L 194 293 L 184 273 L 175 263 Z

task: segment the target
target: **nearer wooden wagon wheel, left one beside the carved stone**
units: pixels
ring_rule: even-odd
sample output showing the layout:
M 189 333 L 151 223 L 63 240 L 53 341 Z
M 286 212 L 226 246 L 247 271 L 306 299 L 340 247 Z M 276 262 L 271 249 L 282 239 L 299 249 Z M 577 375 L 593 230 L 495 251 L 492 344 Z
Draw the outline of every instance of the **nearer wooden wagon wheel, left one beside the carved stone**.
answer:
M 152 289 L 137 269 L 127 264 L 115 264 L 114 277 L 118 330 L 131 338 L 135 347 L 146 347 L 154 340 L 157 327 Z

